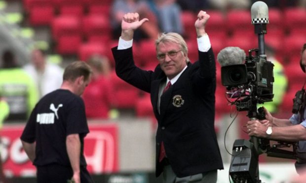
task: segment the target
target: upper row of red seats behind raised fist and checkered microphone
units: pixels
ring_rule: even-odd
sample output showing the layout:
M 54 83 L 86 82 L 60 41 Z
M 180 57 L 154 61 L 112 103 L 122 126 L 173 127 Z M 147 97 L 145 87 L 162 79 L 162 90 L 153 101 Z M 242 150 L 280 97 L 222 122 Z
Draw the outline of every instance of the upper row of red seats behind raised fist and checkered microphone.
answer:
M 210 33 L 217 32 L 219 36 L 224 35 L 225 32 L 234 35 L 252 36 L 254 34 L 250 10 L 232 9 L 227 13 L 207 10 L 207 13 L 211 15 L 206 28 Z M 283 11 L 270 8 L 268 18 L 267 31 L 270 34 L 283 36 L 285 33 L 303 33 L 306 29 L 306 9 L 304 8 L 288 7 Z M 195 19 L 195 13 L 182 12 L 182 22 L 186 30 L 194 29 Z M 195 31 L 188 31 L 186 34 L 193 36 Z

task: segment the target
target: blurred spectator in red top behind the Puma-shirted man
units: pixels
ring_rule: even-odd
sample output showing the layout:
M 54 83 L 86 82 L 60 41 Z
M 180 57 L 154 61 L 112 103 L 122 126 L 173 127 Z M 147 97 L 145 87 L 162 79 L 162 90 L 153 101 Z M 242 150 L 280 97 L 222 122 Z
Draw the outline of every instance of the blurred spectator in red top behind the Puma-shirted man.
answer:
M 92 68 L 92 78 L 82 95 L 86 117 L 88 119 L 108 119 L 115 98 L 109 77 L 109 59 L 93 55 L 87 63 Z

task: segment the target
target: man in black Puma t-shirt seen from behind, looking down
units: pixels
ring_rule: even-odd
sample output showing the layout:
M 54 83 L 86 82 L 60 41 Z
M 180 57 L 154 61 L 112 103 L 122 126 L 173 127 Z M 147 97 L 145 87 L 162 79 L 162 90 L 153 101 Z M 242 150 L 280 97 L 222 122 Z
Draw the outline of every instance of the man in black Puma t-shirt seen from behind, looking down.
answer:
M 80 95 L 90 82 L 90 66 L 69 64 L 61 88 L 42 97 L 21 135 L 23 148 L 37 167 L 38 183 L 93 183 L 83 154 L 89 133 Z

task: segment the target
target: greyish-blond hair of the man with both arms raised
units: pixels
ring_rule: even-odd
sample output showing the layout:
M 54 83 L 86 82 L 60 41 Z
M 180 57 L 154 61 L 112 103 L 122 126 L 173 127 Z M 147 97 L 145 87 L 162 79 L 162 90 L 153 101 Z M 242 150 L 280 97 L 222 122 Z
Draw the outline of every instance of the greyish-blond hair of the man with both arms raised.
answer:
M 165 43 L 165 42 L 172 42 L 179 44 L 182 52 L 186 55 L 186 62 L 190 62 L 190 59 L 188 58 L 188 47 L 187 43 L 184 40 L 184 38 L 176 32 L 168 32 L 168 33 L 160 33 L 158 34 L 158 38 L 155 40 L 155 49 L 157 51 L 157 46 L 159 43 Z

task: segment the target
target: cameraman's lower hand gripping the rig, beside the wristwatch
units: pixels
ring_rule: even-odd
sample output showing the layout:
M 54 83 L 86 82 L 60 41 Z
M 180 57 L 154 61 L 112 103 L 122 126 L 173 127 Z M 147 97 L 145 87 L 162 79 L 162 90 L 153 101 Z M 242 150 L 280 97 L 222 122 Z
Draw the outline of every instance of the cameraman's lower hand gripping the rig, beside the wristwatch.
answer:
M 249 136 L 263 137 L 263 138 L 267 137 L 266 131 L 268 129 L 268 122 L 262 123 L 258 120 L 251 120 L 247 122 L 246 128 Z

